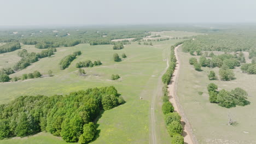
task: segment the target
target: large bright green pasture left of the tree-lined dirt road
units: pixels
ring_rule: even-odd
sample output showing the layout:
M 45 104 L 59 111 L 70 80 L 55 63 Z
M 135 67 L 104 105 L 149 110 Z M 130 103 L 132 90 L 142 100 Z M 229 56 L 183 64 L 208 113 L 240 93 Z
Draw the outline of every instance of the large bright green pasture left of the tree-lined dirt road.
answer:
M 158 86 L 158 77 L 166 68 L 166 61 L 163 60 L 170 54 L 168 49 L 178 41 L 153 41 L 153 46 L 138 45 L 136 42 L 126 45 L 122 50 L 113 50 L 113 45 L 90 46 L 89 44 L 57 48 L 56 54 L 52 57 L 42 58 L 26 69 L 10 75 L 10 77 L 21 76 L 34 70 L 46 75 L 48 70 L 52 70 L 53 77 L 0 83 L 0 104 L 8 103 L 20 95 L 68 94 L 80 89 L 113 85 L 126 103 L 102 114 L 98 121 L 99 137 L 91 143 L 149 143 L 150 101 L 156 88 L 162 87 L 162 85 Z M 60 70 L 61 58 L 78 50 L 82 51 L 82 55 L 74 59 L 67 69 Z M 113 53 L 118 53 L 119 56 L 125 53 L 127 58 L 122 58 L 121 62 L 114 62 Z M 84 68 L 87 76 L 79 76 L 75 64 L 88 59 L 100 60 L 103 64 Z M 110 80 L 112 74 L 119 74 L 121 78 L 112 81 Z M 161 95 L 158 96 L 155 106 L 157 143 L 170 143 L 171 137 L 166 131 L 164 115 L 161 111 Z M 143 100 L 140 100 L 140 97 Z M 22 140 L 0 141 L 0 143 L 22 142 L 65 143 L 59 137 L 45 132 Z

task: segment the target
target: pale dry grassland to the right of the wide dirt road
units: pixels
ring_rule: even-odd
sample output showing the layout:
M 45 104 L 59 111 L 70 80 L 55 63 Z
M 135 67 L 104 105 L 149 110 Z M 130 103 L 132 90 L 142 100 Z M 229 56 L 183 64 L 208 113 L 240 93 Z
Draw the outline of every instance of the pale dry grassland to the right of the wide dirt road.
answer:
M 210 81 L 207 77 L 209 71 L 214 70 L 218 75 L 219 68 L 202 68 L 203 71 L 196 71 L 189 64 L 189 58 L 197 57 L 199 59 L 199 56 L 191 56 L 189 53 L 181 51 L 182 47 L 179 48 L 178 52 L 181 60 L 181 72 L 179 74 L 177 95 L 199 143 L 256 143 L 256 75 L 242 73 L 239 67 L 234 69 L 236 80 Z M 245 54 L 248 56 L 248 53 Z M 216 83 L 219 89 L 228 91 L 236 87 L 245 89 L 248 92 L 248 100 L 251 101 L 251 104 L 227 109 L 210 103 L 207 85 L 211 82 Z M 199 95 L 198 92 L 203 92 L 203 94 Z M 231 118 L 237 122 L 237 125 L 228 126 L 229 113 Z

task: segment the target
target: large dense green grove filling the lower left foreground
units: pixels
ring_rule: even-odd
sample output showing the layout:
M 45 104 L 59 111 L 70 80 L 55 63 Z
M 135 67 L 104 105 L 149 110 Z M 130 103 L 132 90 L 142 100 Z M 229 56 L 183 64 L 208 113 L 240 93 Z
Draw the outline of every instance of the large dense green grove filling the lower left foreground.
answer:
M 89 88 L 65 96 L 21 96 L 0 105 L 0 139 L 46 130 L 66 142 L 89 143 L 97 133 L 92 122 L 100 111 L 124 103 L 113 86 Z

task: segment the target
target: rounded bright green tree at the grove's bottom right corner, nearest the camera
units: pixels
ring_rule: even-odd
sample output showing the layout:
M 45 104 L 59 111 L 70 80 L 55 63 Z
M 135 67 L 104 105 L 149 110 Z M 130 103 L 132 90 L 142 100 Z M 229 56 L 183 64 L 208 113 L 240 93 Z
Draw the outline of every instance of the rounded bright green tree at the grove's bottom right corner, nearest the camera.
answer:
M 83 134 L 79 137 L 79 143 L 86 144 L 91 142 L 94 139 L 96 134 L 96 127 L 94 123 L 90 122 L 84 124 Z

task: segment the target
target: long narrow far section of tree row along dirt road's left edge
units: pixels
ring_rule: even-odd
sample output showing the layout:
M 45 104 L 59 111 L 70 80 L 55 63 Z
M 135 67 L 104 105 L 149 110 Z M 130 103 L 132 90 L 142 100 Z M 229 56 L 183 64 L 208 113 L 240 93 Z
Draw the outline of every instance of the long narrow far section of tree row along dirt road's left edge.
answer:
M 171 62 L 170 66 L 168 67 L 167 71 L 165 72 L 164 75 L 162 75 L 162 82 L 165 83 L 165 84 L 168 84 L 170 82 L 173 71 L 176 67 L 177 59 L 174 55 L 174 46 L 171 46 L 170 62 Z

